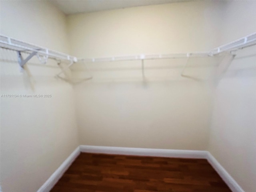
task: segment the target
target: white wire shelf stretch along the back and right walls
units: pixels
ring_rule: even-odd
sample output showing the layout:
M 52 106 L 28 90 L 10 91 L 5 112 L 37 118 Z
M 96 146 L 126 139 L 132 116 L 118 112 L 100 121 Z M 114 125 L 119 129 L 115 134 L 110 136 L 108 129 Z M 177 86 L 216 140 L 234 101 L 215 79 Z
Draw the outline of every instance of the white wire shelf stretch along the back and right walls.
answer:
M 83 62 L 111 62 L 111 61 L 132 61 L 132 60 L 152 60 L 152 59 L 173 59 L 173 58 L 195 58 L 195 57 L 212 57 L 226 54 L 228 51 L 236 51 L 248 46 L 256 45 L 256 32 L 224 44 L 210 51 L 205 52 L 181 52 L 171 54 L 140 54 L 140 55 L 126 55 L 113 56 L 104 58 L 81 58 L 78 61 Z

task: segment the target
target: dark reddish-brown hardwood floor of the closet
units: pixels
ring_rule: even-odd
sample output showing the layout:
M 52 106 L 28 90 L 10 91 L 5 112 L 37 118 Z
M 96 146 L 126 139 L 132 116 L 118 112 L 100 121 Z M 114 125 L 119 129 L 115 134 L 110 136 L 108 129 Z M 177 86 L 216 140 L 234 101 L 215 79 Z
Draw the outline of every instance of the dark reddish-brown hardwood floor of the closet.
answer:
M 51 192 L 231 192 L 207 160 L 81 153 Z

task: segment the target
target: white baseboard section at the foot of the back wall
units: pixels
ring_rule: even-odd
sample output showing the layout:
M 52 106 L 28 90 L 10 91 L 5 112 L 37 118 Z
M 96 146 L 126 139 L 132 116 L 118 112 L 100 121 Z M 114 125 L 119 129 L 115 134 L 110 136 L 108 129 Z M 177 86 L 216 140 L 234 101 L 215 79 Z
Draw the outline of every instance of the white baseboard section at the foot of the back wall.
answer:
M 173 149 L 150 149 L 150 148 L 128 148 L 128 147 L 105 147 L 80 145 L 81 152 L 155 156 L 155 157 L 177 157 L 177 158 L 199 158 L 206 159 L 207 151 L 200 150 L 173 150 Z

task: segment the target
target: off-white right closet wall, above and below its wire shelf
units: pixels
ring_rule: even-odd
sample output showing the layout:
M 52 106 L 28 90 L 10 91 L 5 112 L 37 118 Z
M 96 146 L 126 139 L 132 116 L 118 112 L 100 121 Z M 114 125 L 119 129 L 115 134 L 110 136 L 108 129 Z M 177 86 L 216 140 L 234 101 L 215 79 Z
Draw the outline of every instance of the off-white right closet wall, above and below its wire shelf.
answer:
M 221 44 L 256 32 L 256 1 L 223 7 Z M 246 192 L 256 191 L 256 48 L 238 51 L 214 92 L 209 151 Z

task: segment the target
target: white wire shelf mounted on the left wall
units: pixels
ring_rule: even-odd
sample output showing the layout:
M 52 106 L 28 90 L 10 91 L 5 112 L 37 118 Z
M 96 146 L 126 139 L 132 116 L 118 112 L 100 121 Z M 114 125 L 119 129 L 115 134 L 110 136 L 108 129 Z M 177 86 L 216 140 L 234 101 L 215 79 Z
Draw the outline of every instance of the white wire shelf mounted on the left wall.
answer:
M 50 50 L 48 48 L 24 42 L 2 34 L 0 34 L 0 47 L 9 50 L 14 50 L 17 52 L 25 52 L 28 54 L 32 53 L 34 55 L 46 56 L 47 58 L 52 58 L 55 60 L 68 60 L 70 62 L 77 62 L 77 58 L 74 56 Z

